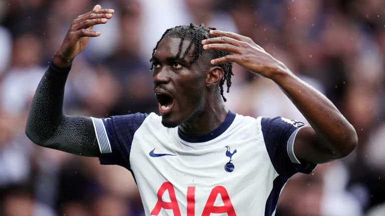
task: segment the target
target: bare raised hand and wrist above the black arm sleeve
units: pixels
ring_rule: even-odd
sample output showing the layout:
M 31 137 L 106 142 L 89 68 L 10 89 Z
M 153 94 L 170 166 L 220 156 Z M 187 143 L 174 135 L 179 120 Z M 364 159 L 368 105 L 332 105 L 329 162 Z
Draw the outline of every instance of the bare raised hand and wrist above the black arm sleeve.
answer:
M 106 23 L 113 13 L 113 9 L 102 9 L 97 4 L 92 11 L 76 17 L 72 21 L 62 45 L 54 54 L 54 64 L 59 67 L 70 66 L 76 55 L 86 48 L 90 37 L 100 35 L 100 32 L 92 31 L 93 26 Z

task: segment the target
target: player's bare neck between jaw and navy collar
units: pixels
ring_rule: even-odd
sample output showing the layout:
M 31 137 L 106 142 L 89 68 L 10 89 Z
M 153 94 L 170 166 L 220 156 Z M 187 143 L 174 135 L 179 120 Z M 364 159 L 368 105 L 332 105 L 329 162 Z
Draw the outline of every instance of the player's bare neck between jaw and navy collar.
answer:
M 184 133 L 201 135 L 209 133 L 217 128 L 225 119 L 229 112 L 222 98 L 213 99 L 212 103 L 205 106 L 203 111 L 191 116 L 179 125 L 179 129 Z

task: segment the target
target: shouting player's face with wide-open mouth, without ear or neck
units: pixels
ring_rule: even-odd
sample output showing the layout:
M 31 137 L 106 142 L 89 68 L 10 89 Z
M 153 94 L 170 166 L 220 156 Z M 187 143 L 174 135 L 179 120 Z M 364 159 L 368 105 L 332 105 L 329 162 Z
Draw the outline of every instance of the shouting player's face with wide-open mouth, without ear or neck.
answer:
M 189 40 L 183 41 L 181 54 Z M 189 50 L 184 59 L 176 56 L 180 38 L 163 38 L 152 56 L 154 66 L 154 92 L 158 108 L 162 114 L 162 124 L 175 127 L 183 122 L 194 120 L 202 112 L 206 101 L 206 71 L 209 64 L 202 57 L 189 65 L 195 47 Z

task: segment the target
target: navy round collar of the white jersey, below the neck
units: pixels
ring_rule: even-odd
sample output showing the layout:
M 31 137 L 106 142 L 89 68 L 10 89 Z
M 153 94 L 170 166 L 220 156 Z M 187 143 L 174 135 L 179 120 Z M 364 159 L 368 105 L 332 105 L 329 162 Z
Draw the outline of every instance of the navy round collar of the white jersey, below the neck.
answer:
M 191 135 L 191 134 L 187 134 L 187 133 L 181 131 L 178 128 L 178 135 L 181 139 L 183 139 L 184 141 L 187 141 L 187 142 L 210 141 L 210 140 L 218 137 L 219 135 L 221 135 L 223 132 L 225 132 L 227 130 L 227 128 L 229 128 L 229 126 L 231 125 L 231 123 L 233 123 L 233 121 L 235 119 L 235 115 L 236 114 L 234 112 L 229 110 L 225 120 L 217 128 L 215 128 L 213 131 L 211 131 L 209 133 L 202 134 L 202 135 Z

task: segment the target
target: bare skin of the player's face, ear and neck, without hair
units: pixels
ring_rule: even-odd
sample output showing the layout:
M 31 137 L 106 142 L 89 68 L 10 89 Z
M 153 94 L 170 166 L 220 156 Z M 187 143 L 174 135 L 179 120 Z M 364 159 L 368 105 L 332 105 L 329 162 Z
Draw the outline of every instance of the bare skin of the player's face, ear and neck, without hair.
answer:
M 181 53 L 189 42 L 183 41 Z M 159 104 L 162 123 L 170 127 L 179 126 L 185 133 L 204 134 L 221 124 L 228 112 L 218 88 L 224 73 L 205 57 L 189 64 L 194 49 L 180 59 L 176 56 L 179 43 L 180 38 L 163 38 L 152 57 L 154 91 L 173 98 L 172 107 L 166 113 L 162 113 Z M 202 71 L 206 71 L 206 76 Z

